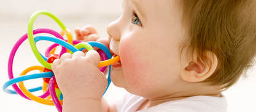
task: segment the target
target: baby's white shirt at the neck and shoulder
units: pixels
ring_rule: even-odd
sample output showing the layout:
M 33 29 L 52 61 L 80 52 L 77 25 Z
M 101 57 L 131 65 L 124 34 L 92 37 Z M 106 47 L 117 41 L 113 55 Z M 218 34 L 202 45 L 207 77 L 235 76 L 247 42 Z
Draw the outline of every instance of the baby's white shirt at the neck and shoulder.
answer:
M 138 95 L 126 93 L 123 100 L 118 100 L 116 109 L 118 112 L 134 112 L 146 99 Z M 226 112 L 227 100 L 223 94 L 221 97 L 198 95 L 180 100 L 164 102 L 138 112 Z

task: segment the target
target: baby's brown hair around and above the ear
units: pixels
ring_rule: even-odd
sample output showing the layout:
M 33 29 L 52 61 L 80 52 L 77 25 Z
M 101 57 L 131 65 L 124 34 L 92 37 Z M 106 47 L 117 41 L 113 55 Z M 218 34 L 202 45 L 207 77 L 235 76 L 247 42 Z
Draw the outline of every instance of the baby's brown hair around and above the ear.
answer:
M 182 24 L 188 29 L 189 38 L 184 40 L 180 53 L 188 47 L 205 63 L 206 51 L 214 52 L 218 67 L 203 82 L 225 85 L 226 90 L 254 65 L 255 1 L 182 0 L 181 4 Z

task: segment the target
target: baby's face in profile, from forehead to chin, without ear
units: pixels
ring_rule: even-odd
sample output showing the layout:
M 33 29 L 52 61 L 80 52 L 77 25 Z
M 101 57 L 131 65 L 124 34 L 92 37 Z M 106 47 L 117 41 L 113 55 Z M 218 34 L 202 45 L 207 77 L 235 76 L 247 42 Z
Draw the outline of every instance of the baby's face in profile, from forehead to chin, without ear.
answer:
M 116 86 L 143 97 L 164 95 L 180 81 L 179 45 L 184 38 L 175 0 L 124 0 L 123 14 L 108 27 Z M 135 13 L 135 14 L 134 14 Z

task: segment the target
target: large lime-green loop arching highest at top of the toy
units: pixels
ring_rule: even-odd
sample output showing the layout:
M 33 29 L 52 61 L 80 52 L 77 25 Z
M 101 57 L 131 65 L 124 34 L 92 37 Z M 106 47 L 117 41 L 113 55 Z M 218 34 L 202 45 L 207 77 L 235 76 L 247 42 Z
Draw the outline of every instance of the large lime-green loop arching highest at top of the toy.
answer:
M 63 22 L 61 22 L 60 19 L 58 19 L 58 17 L 56 17 L 54 14 L 47 12 L 47 11 L 38 11 L 33 13 L 33 15 L 31 15 L 29 22 L 28 22 L 28 40 L 29 40 L 29 44 L 31 46 L 31 49 L 33 51 L 33 53 L 36 56 L 36 59 L 46 68 L 51 70 L 51 63 L 48 63 L 47 61 L 44 60 L 44 58 L 42 58 L 42 56 L 40 56 L 40 53 L 38 51 L 38 49 L 36 48 L 36 44 L 35 44 L 35 40 L 34 40 L 34 35 L 33 35 L 33 23 L 35 22 L 35 19 L 38 15 L 47 15 L 49 17 L 51 17 L 53 20 L 55 20 L 61 27 L 61 29 L 66 29 L 65 25 L 63 24 Z

